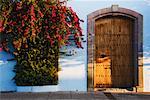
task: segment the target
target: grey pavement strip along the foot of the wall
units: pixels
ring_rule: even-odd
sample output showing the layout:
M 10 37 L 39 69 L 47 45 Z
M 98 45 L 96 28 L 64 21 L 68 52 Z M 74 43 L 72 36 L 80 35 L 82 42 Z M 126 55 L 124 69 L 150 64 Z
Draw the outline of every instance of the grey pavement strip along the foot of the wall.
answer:
M 149 98 L 149 93 L 47 92 L 0 94 L 0 100 L 149 100 Z

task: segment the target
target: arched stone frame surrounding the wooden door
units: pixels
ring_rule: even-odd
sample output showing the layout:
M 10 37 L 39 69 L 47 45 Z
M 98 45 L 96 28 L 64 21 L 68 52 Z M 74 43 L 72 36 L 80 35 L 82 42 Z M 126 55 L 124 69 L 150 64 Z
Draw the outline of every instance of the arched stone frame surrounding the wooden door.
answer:
M 87 16 L 87 90 L 94 91 L 95 20 L 107 16 L 124 16 L 134 20 L 134 87 L 143 91 L 143 16 L 133 10 L 112 5 Z

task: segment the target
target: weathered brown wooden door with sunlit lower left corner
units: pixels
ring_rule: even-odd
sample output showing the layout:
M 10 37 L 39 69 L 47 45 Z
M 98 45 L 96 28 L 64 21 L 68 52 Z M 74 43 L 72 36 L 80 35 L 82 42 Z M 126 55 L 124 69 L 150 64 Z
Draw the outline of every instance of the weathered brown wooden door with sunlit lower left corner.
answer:
M 95 21 L 94 87 L 132 87 L 133 21 L 110 16 Z

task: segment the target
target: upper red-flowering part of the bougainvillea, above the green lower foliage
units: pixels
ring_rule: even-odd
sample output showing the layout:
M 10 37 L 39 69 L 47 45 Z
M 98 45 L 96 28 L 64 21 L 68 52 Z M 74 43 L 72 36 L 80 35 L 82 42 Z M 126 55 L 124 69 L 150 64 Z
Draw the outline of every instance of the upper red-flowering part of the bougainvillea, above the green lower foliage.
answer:
M 52 0 L 53 1 L 53 0 Z M 63 6 L 65 2 L 56 0 L 22 0 L 13 2 L 11 9 L 1 14 L 0 33 L 13 37 L 15 49 L 28 47 L 28 39 L 43 36 L 50 45 L 59 46 L 68 43 L 68 37 L 74 34 L 77 47 L 82 48 L 80 20 L 71 7 Z M 5 19 L 5 20 L 4 20 Z M 7 39 L 7 38 L 5 38 Z M 3 48 L 6 49 L 6 47 Z

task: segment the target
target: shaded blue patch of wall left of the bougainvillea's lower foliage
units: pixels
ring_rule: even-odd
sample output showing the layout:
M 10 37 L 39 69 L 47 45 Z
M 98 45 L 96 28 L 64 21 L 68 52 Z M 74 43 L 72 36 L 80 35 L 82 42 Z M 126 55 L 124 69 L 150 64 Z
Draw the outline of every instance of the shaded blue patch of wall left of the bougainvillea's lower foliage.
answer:
M 14 83 L 13 77 L 15 73 L 13 72 L 15 61 L 7 61 L 13 56 L 10 54 L 0 51 L 0 91 L 16 91 L 16 84 Z

